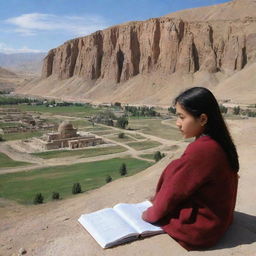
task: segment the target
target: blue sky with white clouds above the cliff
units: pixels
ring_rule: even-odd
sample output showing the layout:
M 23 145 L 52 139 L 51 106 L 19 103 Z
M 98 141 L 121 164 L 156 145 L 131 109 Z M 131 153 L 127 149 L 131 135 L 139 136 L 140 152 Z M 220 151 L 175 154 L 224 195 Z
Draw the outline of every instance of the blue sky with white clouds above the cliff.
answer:
M 47 52 L 131 20 L 228 0 L 0 0 L 0 52 Z

